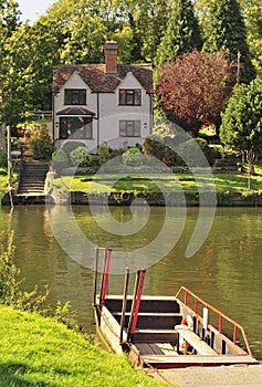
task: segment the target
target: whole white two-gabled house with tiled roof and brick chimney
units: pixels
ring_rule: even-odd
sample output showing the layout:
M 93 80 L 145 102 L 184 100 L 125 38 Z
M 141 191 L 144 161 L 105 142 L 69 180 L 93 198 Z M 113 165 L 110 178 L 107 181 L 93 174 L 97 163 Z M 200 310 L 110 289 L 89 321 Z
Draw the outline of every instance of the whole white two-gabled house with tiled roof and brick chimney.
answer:
M 53 76 L 53 136 L 112 148 L 142 143 L 151 133 L 153 72 L 117 64 L 117 43 L 105 43 L 105 64 L 61 65 Z

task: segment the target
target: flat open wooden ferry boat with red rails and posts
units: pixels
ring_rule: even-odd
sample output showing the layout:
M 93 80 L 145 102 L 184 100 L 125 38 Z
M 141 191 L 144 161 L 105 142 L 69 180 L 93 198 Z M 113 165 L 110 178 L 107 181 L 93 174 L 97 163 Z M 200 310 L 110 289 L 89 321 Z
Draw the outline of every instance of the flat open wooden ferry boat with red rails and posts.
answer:
M 99 251 L 104 251 L 97 294 Z M 96 249 L 94 312 L 97 330 L 116 354 L 134 366 L 156 369 L 258 365 L 243 327 L 181 286 L 175 296 L 142 295 L 145 270 L 138 270 L 128 295 L 107 295 L 112 249 Z

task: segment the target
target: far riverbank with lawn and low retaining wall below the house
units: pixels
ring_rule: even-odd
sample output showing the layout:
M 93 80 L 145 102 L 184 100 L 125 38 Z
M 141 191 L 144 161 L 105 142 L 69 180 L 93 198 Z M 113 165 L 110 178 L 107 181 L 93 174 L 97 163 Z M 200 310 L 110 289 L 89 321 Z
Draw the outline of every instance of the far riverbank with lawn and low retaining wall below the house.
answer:
M 49 172 L 45 194 L 49 202 L 72 205 L 128 206 L 136 203 L 150 206 L 218 206 L 218 207 L 260 207 L 262 206 L 262 166 L 255 167 L 255 175 L 249 179 L 244 170 L 210 172 L 188 171 L 149 174 L 139 168 L 127 172 L 112 170 L 92 172 L 91 168 L 67 168 L 60 174 Z M 7 180 L 7 177 L 6 177 Z M 250 188 L 249 188 L 250 187 Z M 4 195 L 6 191 L 6 195 Z M 2 205 L 9 205 L 7 181 L 0 176 Z M 32 195 L 14 195 L 14 205 L 45 202 L 44 195 L 39 200 Z

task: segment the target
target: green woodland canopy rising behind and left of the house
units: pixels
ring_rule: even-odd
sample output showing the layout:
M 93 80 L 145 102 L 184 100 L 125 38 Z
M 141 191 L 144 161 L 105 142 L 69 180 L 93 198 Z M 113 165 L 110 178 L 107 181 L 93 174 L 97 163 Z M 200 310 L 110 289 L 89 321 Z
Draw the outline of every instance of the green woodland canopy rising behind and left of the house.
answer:
M 230 61 L 240 51 L 241 81 L 251 79 L 249 50 L 261 71 L 262 11 L 259 0 L 238 1 L 241 9 L 237 0 L 57 0 L 30 25 L 21 23 L 18 1 L 0 0 L 0 124 L 15 125 L 30 112 L 50 109 L 54 67 L 103 63 L 107 38 L 118 43 L 119 63 L 160 65 L 201 50 L 202 32 L 205 51 L 227 50 Z M 202 84 L 207 90 L 203 76 Z M 198 112 L 196 127 L 213 122 L 218 106 L 209 107 L 209 116 Z

